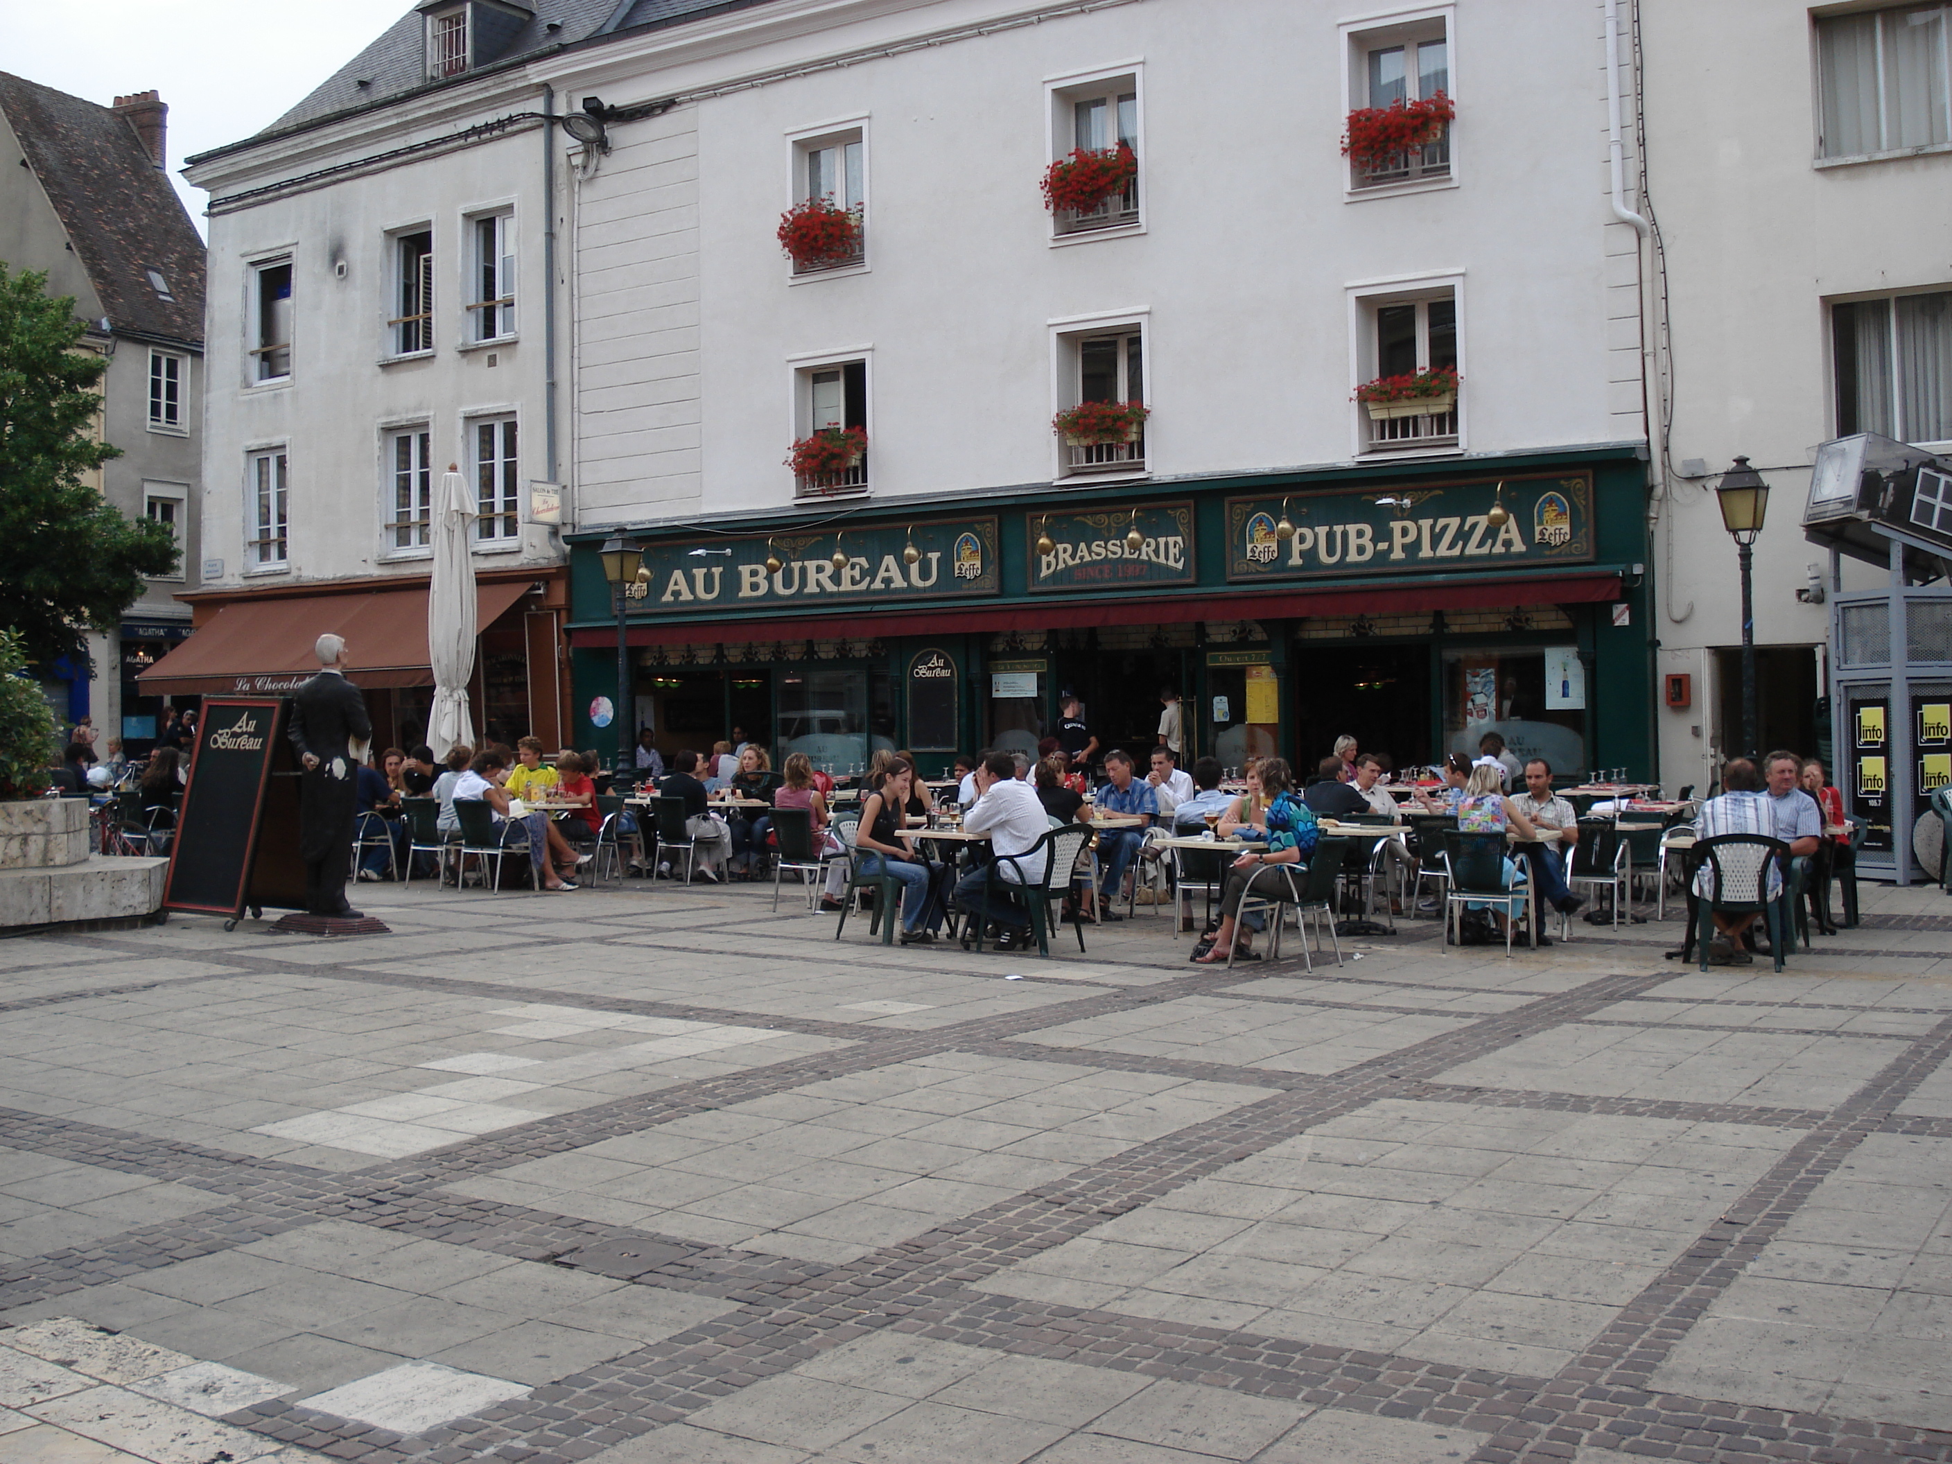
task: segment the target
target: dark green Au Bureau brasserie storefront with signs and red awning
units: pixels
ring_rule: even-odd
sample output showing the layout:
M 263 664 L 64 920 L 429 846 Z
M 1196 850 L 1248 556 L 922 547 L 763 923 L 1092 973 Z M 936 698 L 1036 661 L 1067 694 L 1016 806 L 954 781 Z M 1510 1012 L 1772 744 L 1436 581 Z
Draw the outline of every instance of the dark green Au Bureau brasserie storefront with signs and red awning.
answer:
M 1497 730 L 1562 775 L 1653 777 L 1646 463 L 1632 447 L 625 525 L 632 732 L 847 773 L 1035 750 L 1076 693 L 1101 748 L 1187 761 L 1341 734 L 1394 765 Z M 615 755 L 617 613 L 570 535 L 578 746 Z

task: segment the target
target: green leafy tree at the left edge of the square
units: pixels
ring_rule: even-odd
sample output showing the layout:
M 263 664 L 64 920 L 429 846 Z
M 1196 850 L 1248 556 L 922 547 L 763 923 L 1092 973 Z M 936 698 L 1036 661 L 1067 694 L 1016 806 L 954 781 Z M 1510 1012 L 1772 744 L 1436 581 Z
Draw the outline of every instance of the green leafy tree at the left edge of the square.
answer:
M 0 627 L 43 666 L 80 660 L 82 632 L 113 629 L 178 562 L 168 525 L 129 521 L 82 480 L 121 457 L 90 435 L 107 361 L 74 349 L 82 332 L 45 273 L 0 264 Z

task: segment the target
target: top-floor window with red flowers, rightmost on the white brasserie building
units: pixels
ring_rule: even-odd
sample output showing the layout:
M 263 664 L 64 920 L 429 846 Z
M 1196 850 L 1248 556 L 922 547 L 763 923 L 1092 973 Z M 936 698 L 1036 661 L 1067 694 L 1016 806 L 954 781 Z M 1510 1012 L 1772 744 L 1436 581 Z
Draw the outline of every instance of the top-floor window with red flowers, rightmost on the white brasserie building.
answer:
M 1349 31 L 1349 185 L 1450 178 L 1450 27 L 1444 14 Z

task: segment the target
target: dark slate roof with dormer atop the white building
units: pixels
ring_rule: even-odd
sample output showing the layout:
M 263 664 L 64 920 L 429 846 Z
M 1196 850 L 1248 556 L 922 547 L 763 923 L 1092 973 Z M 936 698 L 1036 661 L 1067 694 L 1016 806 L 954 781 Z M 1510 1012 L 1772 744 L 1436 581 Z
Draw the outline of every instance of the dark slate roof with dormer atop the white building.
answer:
M 502 55 L 488 64 L 543 51 L 593 41 L 621 31 L 652 25 L 675 25 L 695 16 L 736 10 L 763 0 L 525 0 L 535 6 L 535 18 L 523 25 Z M 550 25 L 556 25 L 550 31 Z M 258 137 L 271 137 L 342 111 L 371 107 L 435 86 L 455 86 L 465 76 L 429 82 L 426 74 L 426 21 L 418 10 L 408 10 L 386 27 L 377 41 L 342 66 L 330 80 L 299 105 L 265 127 Z M 361 86 L 359 82 L 365 82 Z M 574 105 L 574 102 L 570 103 Z M 234 146 L 234 144 L 232 144 Z M 217 148 L 215 152 L 228 152 Z M 213 156 L 213 154 L 203 154 Z

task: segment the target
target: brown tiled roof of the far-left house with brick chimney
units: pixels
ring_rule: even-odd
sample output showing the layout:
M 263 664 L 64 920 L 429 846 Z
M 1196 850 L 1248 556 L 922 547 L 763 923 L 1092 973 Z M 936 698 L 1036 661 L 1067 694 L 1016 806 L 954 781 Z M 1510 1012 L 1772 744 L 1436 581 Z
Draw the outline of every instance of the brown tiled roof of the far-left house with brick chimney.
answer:
M 109 324 L 201 346 L 203 240 L 135 127 L 109 107 L 8 72 L 0 72 L 0 109 Z M 150 283 L 150 269 L 172 299 Z

